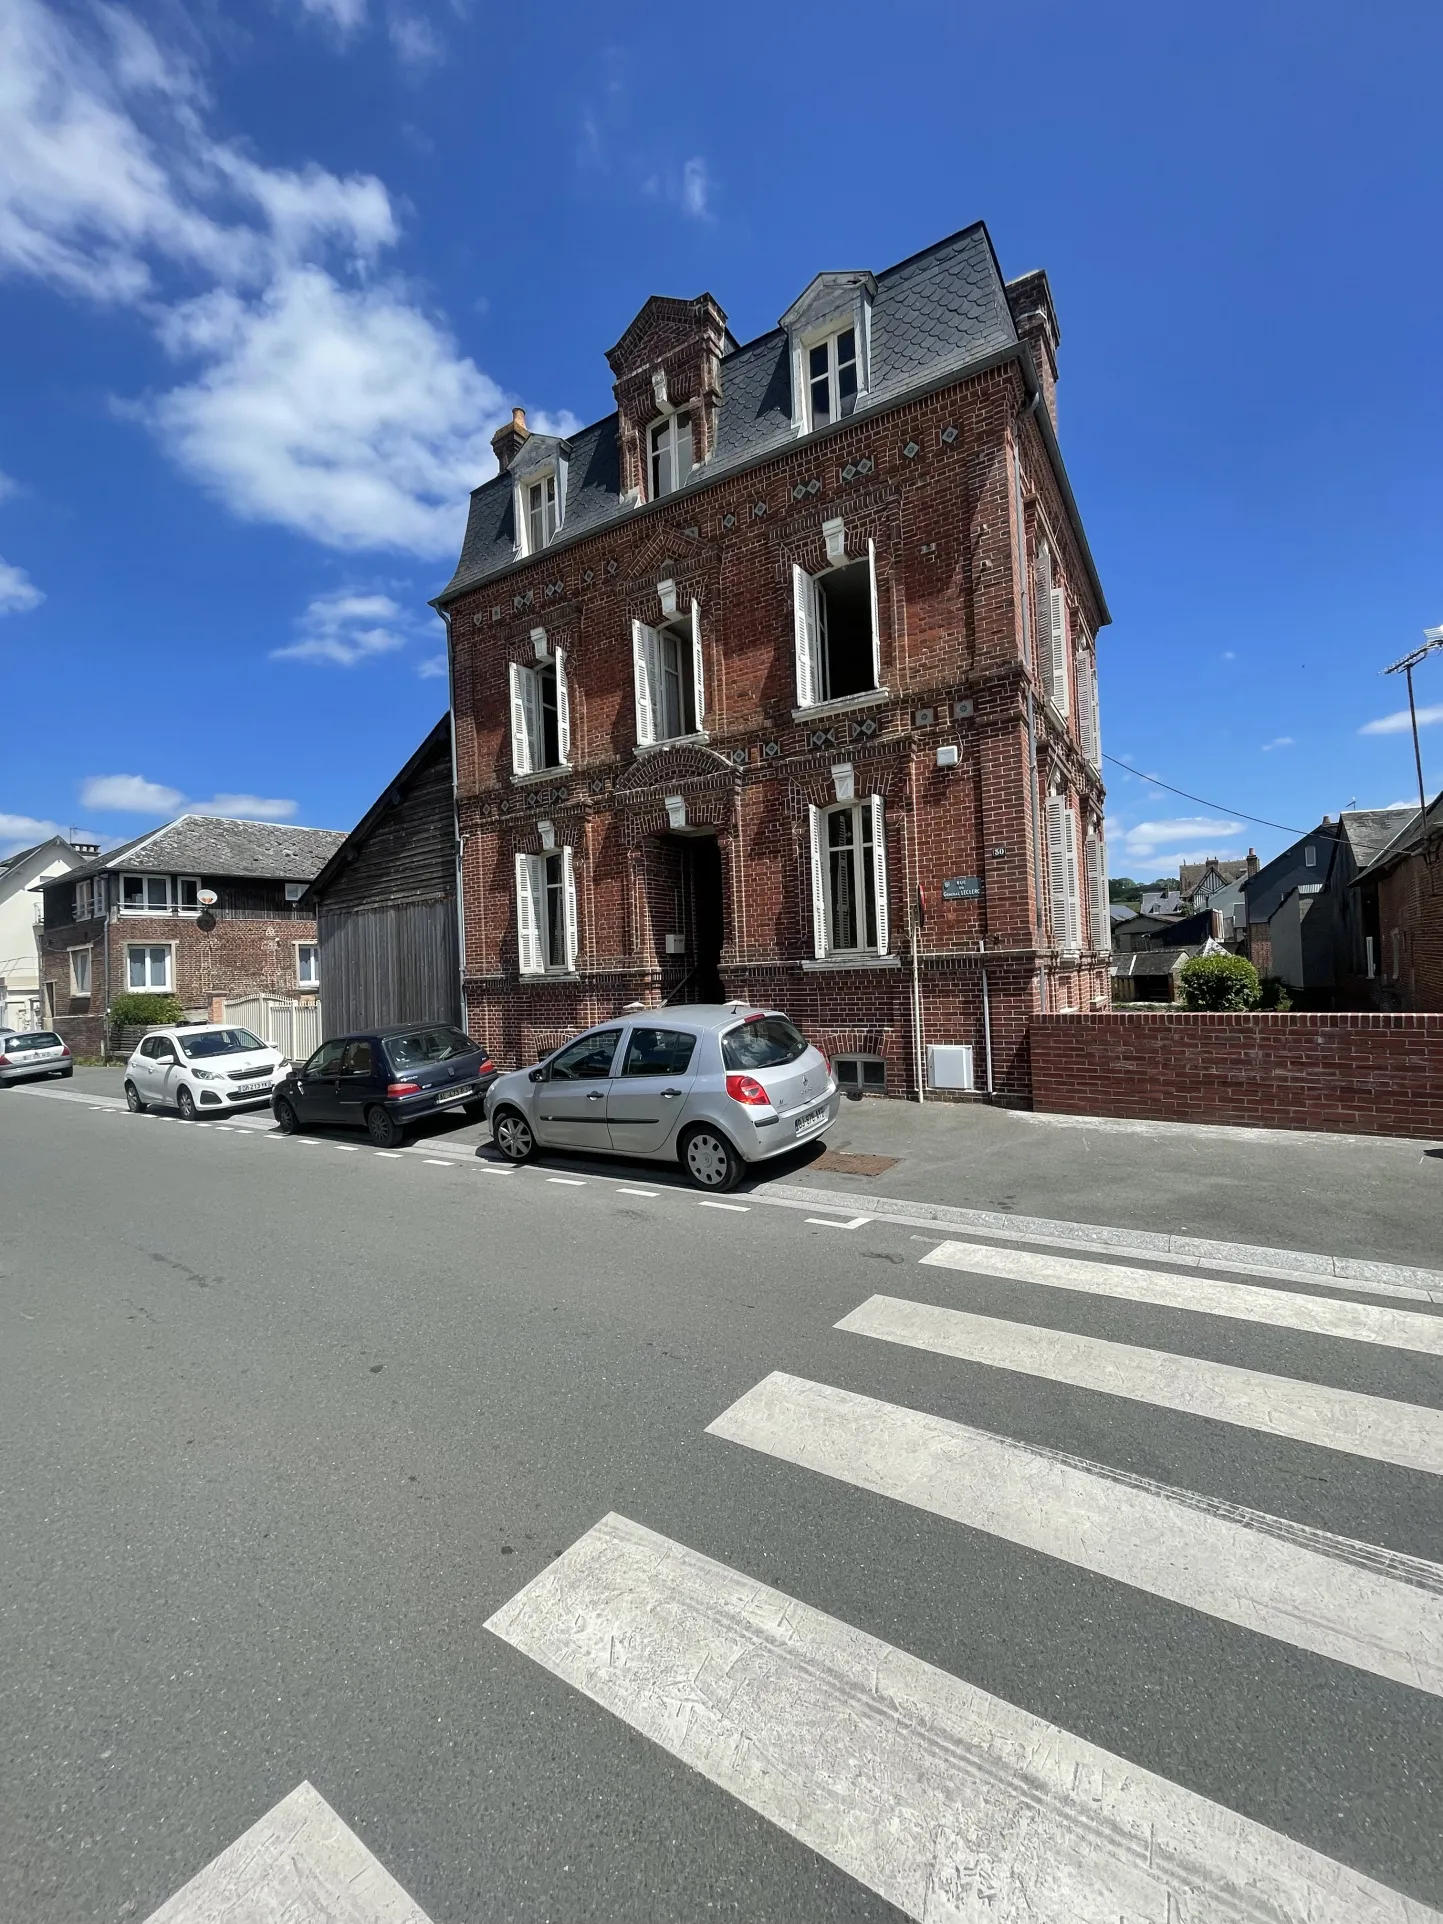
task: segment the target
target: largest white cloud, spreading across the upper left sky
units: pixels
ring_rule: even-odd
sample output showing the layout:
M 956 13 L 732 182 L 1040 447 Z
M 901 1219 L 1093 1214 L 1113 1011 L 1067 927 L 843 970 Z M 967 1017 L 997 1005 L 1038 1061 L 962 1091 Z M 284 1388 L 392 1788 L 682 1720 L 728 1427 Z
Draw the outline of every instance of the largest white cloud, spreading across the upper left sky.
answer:
M 308 12 L 342 31 L 366 17 L 362 0 Z M 156 327 L 189 371 L 129 412 L 237 516 L 335 548 L 452 552 L 510 398 L 377 273 L 396 240 L 385 187 L 215 139 L 189 63 L 123 10 L 96 17 L 0 8 L 0 271 Z M 418 33 L 406 44 L 419 56 Z

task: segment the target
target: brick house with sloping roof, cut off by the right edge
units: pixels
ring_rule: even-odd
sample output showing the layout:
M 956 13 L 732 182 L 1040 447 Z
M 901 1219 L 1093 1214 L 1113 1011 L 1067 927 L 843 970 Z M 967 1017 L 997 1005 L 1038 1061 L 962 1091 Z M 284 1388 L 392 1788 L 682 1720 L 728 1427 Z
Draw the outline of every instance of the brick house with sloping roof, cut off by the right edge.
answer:
M 1381 1006 L 1443 1010 L 1443 793 L 1353 883 Z

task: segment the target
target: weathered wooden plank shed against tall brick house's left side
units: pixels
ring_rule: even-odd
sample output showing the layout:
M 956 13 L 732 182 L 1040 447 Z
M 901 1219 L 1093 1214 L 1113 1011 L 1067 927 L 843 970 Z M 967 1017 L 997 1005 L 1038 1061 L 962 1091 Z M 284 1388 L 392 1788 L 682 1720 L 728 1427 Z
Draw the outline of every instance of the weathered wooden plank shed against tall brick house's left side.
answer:
M 316 914 L 325 1035 L 462 1020 L 450 716 L 300 900 Z

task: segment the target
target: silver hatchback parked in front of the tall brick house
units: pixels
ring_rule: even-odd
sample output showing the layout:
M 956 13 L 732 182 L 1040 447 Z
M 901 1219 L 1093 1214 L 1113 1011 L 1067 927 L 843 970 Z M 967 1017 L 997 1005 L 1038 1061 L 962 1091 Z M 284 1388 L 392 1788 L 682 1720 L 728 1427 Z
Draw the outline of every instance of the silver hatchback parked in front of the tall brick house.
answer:
M 698 1189 L 731 1189 L 748 1162 L 823 1135 L 841 1093 L 820 1049 L 747 1002 L 648 1008 L 604 1022 L 487 1091 L 496 1149 L 600 1151 L 681 1162 Z

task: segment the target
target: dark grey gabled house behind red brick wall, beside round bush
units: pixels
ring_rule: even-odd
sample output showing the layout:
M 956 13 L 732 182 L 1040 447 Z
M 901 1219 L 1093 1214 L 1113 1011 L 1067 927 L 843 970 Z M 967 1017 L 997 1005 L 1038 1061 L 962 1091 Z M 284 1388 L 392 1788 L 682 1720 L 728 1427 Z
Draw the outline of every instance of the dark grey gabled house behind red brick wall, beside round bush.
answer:
M 1324 816 L 1243 883 L 1247 954 L 1258 975 L 1278 975 L 1304 1006 L 1372 1008 L 1376 935 L 1353 881 L 1418 810 L 1351 808 Z

